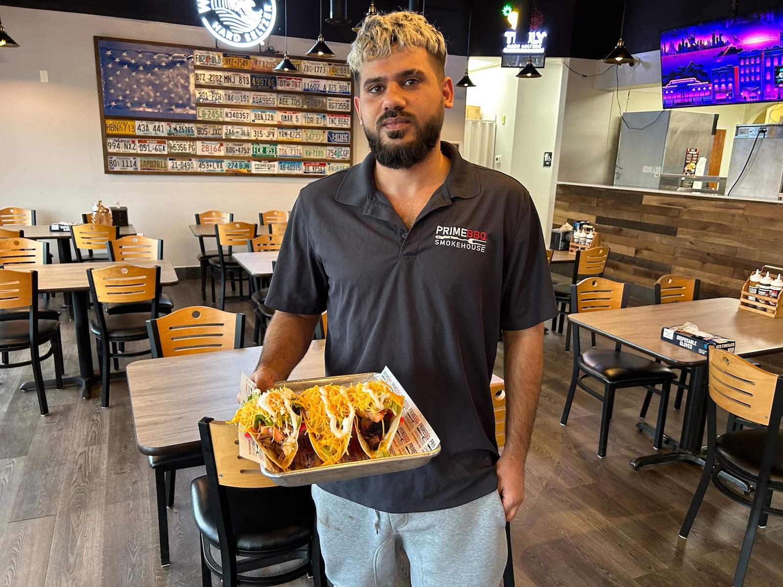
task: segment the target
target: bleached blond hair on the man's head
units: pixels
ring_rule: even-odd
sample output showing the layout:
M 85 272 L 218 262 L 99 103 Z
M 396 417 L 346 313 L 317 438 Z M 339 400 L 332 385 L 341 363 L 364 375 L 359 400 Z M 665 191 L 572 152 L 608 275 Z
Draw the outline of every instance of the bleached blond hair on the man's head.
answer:
M 348 67 L 356 80 L 362 67 L 373 59 L 385 59 L 394 51 L 424 49 L 438 66 L 435 71 L 445 76 L 446 41 L 438 29 L 417 13 L 396 13 L 367 16 L 348 53 Z

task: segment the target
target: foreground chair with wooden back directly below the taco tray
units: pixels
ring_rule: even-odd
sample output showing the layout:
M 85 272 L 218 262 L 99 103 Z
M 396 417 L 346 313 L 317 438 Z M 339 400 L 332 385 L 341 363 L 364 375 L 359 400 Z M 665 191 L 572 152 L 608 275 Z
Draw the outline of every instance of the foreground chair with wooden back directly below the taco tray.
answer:
M 258 463 L 238 457 L 233 424 L 203 418 L 198 426 L 207 474 L 193 480 L 190 495 L 201 541 L 202 583 L 211 585 L 212 573 L 223 585 L 280 585 L 312 574 L 315 587 L 326 587 L 309 485 L 279 487 L 259 474 Z M 219 549 L 219 560 L 210 547 Z M 238 556 L 246 558 L 237 562 Z M 245 574 L 281 560 L 301 562 L 271 576 L 265 573 L 263 582 Z

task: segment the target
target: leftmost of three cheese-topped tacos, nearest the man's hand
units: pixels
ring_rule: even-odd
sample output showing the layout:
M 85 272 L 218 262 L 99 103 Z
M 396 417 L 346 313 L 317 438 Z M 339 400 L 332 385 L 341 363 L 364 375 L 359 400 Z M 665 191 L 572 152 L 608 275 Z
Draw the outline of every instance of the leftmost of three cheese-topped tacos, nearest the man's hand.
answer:
M 287 470 L 299 450 L 301 405 L 288 387 L 277 387 L 247 398 L 229 423 L 239 423 L 268 461 Z

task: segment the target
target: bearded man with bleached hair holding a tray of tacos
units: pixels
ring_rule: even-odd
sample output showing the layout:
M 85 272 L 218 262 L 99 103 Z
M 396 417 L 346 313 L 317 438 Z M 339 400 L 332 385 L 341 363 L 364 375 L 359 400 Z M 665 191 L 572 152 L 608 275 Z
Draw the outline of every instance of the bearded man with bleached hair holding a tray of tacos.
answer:
M 389 366 L 442 450 L 414 470 L 313 486 L 335 587 L 390 587 L 395 545 L 418 585 L 496 587 L 504 528 L 524 499 L 543 364 L 557 314 L 539 218 L 513 178 L 440 141 L 454 101 L 446 44 L 424 16 L 368 16 L 348 55 L 370 155 L 301 190 L 266 304 L 252 378 L 301 360 L 328 308 L 327 375 Z M 507 440 L 489 394 L 503 329 Z

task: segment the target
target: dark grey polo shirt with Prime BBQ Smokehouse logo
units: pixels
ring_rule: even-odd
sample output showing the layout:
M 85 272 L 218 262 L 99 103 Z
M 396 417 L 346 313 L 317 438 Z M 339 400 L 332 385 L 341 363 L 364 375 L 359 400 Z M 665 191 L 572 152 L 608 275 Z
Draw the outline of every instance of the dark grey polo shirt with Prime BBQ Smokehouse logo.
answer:
M 420 468 L 321 485 L 392 513 L 460 506 L 497 488 L 489 395 L 498 331 L 557 314 L 528 191 L 447 142 L 446 182 L 410 231 L 375 187 L 375 159 L 313 182 L 291 211 L 266 304 L 329 309 L 327 375 L 388 365 L 442 443 Z

